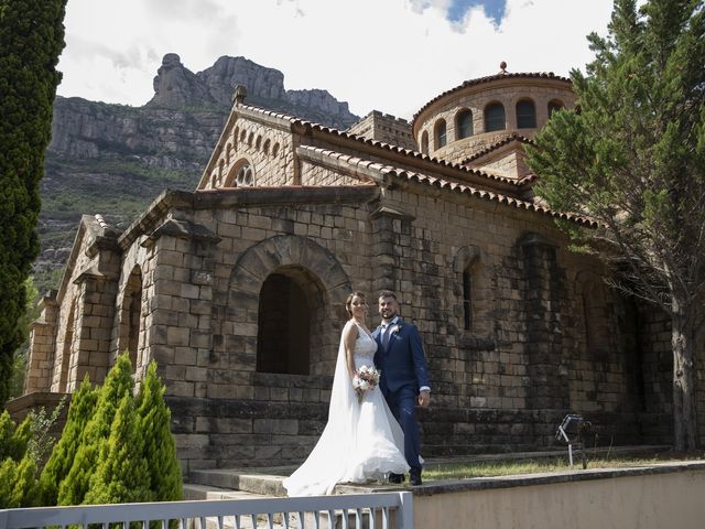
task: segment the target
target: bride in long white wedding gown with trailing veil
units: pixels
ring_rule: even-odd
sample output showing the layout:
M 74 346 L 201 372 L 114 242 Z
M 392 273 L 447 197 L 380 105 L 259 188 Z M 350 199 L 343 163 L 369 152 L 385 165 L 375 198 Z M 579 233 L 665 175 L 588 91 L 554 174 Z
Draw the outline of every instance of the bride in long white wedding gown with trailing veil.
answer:
M 409 471 L 401 427 L 379 388 L 362 392 L 358 400 L 352 386 L 358 369 L 375 367 L 377 350 L 365 325 L 365 294 L 351 293 L 345 307 L 350 320 L 338 347 L 328 423 L 308 458 L 284 479 L 289 496 L 332 494 L 338 483 L 365 483 Z

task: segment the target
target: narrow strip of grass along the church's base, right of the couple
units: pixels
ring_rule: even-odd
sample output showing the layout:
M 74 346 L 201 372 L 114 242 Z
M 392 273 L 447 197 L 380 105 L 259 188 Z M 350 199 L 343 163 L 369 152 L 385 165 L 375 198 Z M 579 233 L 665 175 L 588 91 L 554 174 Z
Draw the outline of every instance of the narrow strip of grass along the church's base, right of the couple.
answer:
M 703 453 L 674 454 L 671 452 L 652 456 L 597 456 L 588 457 L 587 468 L 628 468 L 650 466 L 655 463 L 693 461 L 705 458 Z M 582 460 L 574 454 L 573 469 L 583 469 Z M 500 477 L 521 474 L 540 474 L 570 471 L 566 457 L 541 457 L 531 460 L 478 461 L 467 463 L 436 463 L 424 465 L 424 481 L 470 479 L 474 477 Z

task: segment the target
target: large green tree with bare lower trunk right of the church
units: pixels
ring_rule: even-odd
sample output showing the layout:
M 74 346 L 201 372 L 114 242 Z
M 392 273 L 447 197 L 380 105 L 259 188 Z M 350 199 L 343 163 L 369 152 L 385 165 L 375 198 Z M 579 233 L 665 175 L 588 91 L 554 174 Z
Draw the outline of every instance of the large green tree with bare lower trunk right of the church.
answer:
M 529 148 L 536 192 L 616 287 L 671 316 L 674 444 L 697 444 L 694 352 L 705 307 L 705 13 L 702 0 L 616 0 L 596 58 L 571 77 L 578 111 L 552 116 Z

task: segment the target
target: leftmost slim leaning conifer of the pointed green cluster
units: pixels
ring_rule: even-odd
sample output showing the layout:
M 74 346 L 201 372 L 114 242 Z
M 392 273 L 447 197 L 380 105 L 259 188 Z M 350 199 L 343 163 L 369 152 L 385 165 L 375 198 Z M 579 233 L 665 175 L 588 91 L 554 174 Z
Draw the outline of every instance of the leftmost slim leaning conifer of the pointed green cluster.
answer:
M 83 441 L 86 424 L 93 418 L 98 400 L 98 390 L 90 386 L 88 376 L 73 396 L 62 435 L 42 469 L 40 489 L 42 505 L 56 505 L 58 488 L 68 475 L 78 447 Z

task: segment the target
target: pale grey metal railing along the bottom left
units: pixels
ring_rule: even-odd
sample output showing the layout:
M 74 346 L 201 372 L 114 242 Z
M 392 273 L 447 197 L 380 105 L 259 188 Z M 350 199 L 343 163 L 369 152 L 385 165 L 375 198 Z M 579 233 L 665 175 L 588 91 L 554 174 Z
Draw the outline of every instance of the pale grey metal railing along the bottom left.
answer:
M 216 499 L 0 510 L 0 529 L 413 528 L 413 494 Z M 90 527 L 93 526 L 93 527 Z

